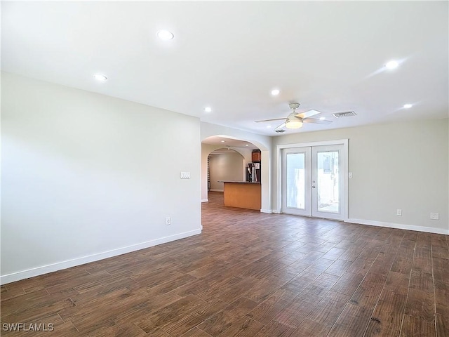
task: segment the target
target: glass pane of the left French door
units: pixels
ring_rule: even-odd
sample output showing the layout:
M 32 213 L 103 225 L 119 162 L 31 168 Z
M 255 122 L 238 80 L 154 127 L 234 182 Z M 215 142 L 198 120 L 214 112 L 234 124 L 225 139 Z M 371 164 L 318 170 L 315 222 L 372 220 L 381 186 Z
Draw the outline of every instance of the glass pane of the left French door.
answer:
M 287 164 L 287 207 L 305 209 L 305 155 L 304 152 L 288 153 Z

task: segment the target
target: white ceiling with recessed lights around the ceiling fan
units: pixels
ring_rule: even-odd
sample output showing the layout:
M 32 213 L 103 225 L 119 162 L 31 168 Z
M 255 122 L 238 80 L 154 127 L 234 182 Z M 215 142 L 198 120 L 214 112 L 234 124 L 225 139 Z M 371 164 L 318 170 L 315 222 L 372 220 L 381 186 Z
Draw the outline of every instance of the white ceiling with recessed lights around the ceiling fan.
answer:
M 333 123 L 288 132 L 448 117 L 448 1 L 2 1 L 1 25 L 6 72 L 255 133 L 290 101 Z

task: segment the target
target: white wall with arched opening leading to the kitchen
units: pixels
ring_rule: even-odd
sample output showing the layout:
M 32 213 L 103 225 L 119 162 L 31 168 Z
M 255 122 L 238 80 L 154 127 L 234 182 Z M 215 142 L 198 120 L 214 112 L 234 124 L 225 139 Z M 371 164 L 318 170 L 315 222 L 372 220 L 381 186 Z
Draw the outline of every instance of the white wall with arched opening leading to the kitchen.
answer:
M 227 138 L 245 140 L 249 143 L 256 145 L 261 151 L 261 194 L 262 194 L 262 212 L 272 213 L 272 176 L 270 174 L 272 170 L 272 137 L 257 135 L 256 133 L 250 133 L 246 131 L 237 130 L 235 128 L 228 128 L 227 126 L 220 126 L 216 124 L 210 124 L 201 122 L 201 140 L 204 140 L 210 136 L 225 136 Z M 207 189 L 204 189 L 204 167 L 205 164 L 204 154 L 207 152 L 206 147 L 203 147 L 202 154 L 202 169 L 201 180 L 202 190 L 201 199 L 207 199 Z M 210 152 L 209 152 L 210 153 Z M 207 159 L 207 157 L 206 157 Z M 206 166 L 207 170 L 207 166 Z M 206 171 L 207 174 L 207 171 Z M 207 176 L 206 176 L 207 183 Z M 207 186 L 207 185 L 206 185 Z M 206 197 L 205 197 L 206 194 Z

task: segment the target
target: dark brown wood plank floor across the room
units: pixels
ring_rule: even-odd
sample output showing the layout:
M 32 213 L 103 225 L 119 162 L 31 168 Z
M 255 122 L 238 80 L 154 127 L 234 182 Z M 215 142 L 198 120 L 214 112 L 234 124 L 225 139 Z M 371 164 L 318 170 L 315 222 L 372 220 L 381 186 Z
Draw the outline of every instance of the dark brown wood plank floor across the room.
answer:
M 1 286 L 1 336 L 449 336 L 448 236 L 209 199 L 201 235 Z

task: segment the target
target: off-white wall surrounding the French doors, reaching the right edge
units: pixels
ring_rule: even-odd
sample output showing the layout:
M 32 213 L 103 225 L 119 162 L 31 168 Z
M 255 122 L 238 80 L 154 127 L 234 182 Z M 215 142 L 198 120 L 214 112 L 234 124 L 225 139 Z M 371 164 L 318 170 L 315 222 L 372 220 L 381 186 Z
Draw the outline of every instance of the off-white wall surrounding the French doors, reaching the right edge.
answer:
M 349 138 L 349 220 L 449 234 L 448 126 L 448 119 L 423 119 L 296 133 L 275 137 L 273 145 Z M 277 209 L 276 153 L 273 160 Z M 440 220 L 430 220 L 431 212 Z

